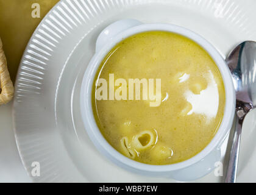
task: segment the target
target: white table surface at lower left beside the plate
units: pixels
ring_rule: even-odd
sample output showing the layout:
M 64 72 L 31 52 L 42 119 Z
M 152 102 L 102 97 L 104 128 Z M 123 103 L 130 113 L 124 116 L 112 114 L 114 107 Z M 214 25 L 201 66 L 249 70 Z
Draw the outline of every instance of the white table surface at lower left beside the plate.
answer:
M 0 182 L 31 182 L 16 147 L 12 104 L 0 106 Z

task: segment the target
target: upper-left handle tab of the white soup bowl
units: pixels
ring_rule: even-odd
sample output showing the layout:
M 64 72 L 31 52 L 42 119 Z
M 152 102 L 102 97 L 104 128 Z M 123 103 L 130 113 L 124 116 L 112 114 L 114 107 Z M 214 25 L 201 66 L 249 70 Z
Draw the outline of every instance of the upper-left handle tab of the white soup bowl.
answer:
M 108 41 L 112 40 L 112 38 L 114 38 L 120 32 L 140 24 L 143 23 L 136 19 L 121 19 L 110 24 L 104 30 L 102 30 L 101 34 L 99 34 L 96 41 L 96 52 L 98 52 Z

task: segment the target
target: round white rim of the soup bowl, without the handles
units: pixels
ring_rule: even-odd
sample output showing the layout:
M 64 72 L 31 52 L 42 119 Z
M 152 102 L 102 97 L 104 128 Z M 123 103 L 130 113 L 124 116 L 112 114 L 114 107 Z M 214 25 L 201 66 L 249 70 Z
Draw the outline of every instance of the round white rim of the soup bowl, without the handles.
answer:
M 221 124 L 219 125 L 218 131 L 216 132 L 210 143 L 208 143 L 208 145 L 201 152 L 194 155 L 193 157 L 188 158 L 185 161 L 170 165 L 149 165 L 146 163 L 140 163 L 116 151 L 116 149 L 113 148 L 107 142 L 107 140 L 105 140 L 102 133 L 100 132 L 93 116 L 93 108 L 91 104 L 91 93 L 94 84 L 94 77 L 96 76 L 98 68 L 105 55 L 107 55 L 108 52 L 111 51 L 111 49 L 114 48 L 116 44 L 118 44 L 125 38 L 138 34 L 140 32 L 154 30 L 173 32 L 183 35 L 184 37 L 190 38 L 191 40 L 199 44 L 202 48 L 204 48 L 218 66 L 219 72 L 221 73 L 222 80 L 224 82 L 226 95 L 224 116 L 222 118 Z M 189 29 L 176 26 L 174 24 L 140 24 L 119 33 L 114 38 L 112 38 L 112 40 L 108 41 L 103 46 L 103 48 L 96 52 L 96 54 L 94 54 L 93 58 L 88 64 L 82 80 L 80 90 L 80 112 L 82 115 L 82 120 L 84 122 L 84 127 L 91 141 L 93 141 L 93 144 L 98 148 L 98 150 L 101 151 L 102 154 L 110 158 L 110 160 L 121 166 L 128 166 L 129 168 L 137 169 L 140 171 L 169 172 L 187 168 L 188 166 L 203 160 L 204 157 L 206 157 L 208 154 L 210 154 L 210 152 L 213 151 L 213 149 L 219 147 L 232 126 L 233 115 L 235 113 L 235 91 L 233 89 L 232 76 L 230 74 L 229 68 L 226 65 L 225 60 L 221 57 L 221 54 L 219 54 L 215 47 L 213 47 L 212 44 L 205 40 L 205 38 L 201 37 L 201 35 L 198 35 Z

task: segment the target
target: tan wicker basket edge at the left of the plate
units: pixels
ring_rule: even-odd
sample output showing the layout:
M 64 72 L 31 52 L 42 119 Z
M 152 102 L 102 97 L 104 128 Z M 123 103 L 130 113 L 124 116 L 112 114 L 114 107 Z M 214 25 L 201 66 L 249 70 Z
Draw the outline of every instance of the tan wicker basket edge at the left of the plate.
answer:
M 0 38 L 0 105 L 7 104 L 13 98 L 14 88 L 7 68 L 7 60 L 2 49 Z

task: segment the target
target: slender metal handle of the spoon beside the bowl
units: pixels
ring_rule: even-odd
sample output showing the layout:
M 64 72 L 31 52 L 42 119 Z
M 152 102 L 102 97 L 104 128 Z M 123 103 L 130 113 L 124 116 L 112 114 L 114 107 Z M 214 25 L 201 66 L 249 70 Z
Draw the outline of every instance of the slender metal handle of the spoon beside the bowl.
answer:
M 235 129 L 233 133 L 232 147 L 229 156 L 229 164 L 227 165 L 225 183 L 235 183 L 236 181 L 236 172 L 238 166 L 238 155 L 243 120 L 239 119 L 238 116 L 235 117 Z

